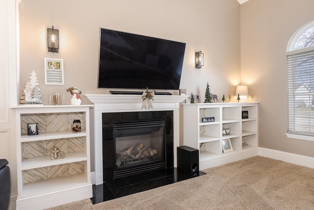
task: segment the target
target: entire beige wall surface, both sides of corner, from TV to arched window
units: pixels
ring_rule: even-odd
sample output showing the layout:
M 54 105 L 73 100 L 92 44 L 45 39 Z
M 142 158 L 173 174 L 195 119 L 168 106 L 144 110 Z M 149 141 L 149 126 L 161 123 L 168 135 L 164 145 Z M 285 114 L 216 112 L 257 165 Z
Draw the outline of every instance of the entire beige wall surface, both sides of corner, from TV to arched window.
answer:
M 204 100 L 206 83 L 221 98 L 249 85 L 260 104 L 259 146 L 314 156 L 314 142 L 289 139 L 286 111 L 286 49 L 292 34 L 314 20 L 313 0 L 23 0 L 20 9 L 21 86 L 35 70 L 42 100 L 78 86 L 97 89 L 99 28 L 186 43 L 180 88 Z M 55 9 L 52 9 L 55 8 Z M 241 23 L 241 26 L 240 26 Z M 60 31 L 59 53 L 48 53 L 46 30 Z M 241 31 L 241 32 L 240 32 Z M 241 36 L 241 39 L 240 39 Z M 195 69 L 194 52 L 205 54 Z M 241 52 L 241 55 L 240 55 Z M 64 59 L 65 85 L 44 83 L 44 58 Z M 241 61 L 241 67 L 240 67 Z M 241 70 L 240 70 L 241 69 Z M 88 103 L 83 98 L 83 103 Z

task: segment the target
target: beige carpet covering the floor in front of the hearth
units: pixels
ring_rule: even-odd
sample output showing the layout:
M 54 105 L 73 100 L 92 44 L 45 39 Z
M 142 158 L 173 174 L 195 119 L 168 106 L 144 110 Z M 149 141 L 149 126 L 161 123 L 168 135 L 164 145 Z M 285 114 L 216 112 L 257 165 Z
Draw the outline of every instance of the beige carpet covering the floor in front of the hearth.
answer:
M 256 156 L 206 175 L 92 205 L 49 210 L 314 210 L 314 169 Z

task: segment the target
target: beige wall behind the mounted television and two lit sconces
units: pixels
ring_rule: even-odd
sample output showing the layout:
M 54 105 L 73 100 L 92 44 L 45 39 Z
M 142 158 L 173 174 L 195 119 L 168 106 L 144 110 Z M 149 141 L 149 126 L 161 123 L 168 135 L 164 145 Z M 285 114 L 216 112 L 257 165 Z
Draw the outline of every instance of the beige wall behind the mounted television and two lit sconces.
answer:
M 181 89 L 204 101 L 207 82 L 213 93 L 234 94 L 240 82 L 240 4 L 236 0 L 22 0 L 20 9 L 20 94 L 35 70 L 42 100 L 69 87 L 97 89 L 100 27 L 186 43 Z M 47 52 L 46 31 L 59 30 L 59 53 Z M 194 53 L 205 65 L 194 67 Z M 64 60 L 64 86 L 45 85 L 44 58 Z M 88 103 L 83 98 L 82 103 Z

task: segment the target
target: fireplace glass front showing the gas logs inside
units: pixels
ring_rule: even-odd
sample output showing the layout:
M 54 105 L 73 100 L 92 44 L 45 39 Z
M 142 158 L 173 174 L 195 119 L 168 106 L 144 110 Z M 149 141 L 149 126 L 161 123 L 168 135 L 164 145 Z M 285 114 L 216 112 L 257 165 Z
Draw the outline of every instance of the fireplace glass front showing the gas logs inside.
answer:
M 114 174 L 165 167 L 165 120 L 113 122 Z

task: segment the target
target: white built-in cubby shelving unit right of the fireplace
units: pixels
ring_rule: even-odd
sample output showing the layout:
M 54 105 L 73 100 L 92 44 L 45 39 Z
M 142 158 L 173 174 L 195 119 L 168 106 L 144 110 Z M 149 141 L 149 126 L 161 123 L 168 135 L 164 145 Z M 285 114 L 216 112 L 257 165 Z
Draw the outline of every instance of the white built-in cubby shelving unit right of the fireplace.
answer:
M 209 117 L 214 121 L 202 122 Z M 223 135 L 225 128 L 229 135 Z M 224 153 L 226 139 L 233 151 Z M 183 104 L 183 145 L 199 150 L 200 170 L 258 155 L 258 103 Z

